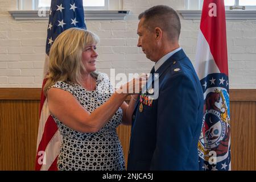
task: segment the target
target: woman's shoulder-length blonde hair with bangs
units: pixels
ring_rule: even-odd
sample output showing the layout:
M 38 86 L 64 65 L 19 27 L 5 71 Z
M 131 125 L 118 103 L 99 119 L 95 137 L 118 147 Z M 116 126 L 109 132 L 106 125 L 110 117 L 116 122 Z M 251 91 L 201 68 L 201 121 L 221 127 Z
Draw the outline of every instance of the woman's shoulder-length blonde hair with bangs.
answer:
M 82 51 L 99 41 L 96 34 L 82 28 L 69 28 L 57 36 L 49 52 L 48 80 L 44 85 L 44 94 L 57 81 L 81 85 L 81 74 L 85 71 Z

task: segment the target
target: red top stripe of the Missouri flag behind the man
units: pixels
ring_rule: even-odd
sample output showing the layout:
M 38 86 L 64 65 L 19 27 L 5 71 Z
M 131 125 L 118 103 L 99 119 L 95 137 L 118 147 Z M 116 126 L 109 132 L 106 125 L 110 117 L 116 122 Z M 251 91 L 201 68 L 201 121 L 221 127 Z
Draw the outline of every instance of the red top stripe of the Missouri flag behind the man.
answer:
M 204 0 L 200 29 L 209 44 L 210 52 L 218 69 L 228 76 L 226 18 L 223 0 Z

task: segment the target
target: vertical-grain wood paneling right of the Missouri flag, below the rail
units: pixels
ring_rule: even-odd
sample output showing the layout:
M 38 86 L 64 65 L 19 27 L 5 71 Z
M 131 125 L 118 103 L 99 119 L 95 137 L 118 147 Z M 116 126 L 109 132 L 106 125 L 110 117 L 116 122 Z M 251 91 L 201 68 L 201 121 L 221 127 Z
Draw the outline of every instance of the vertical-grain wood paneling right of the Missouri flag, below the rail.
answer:
M 231 102 L 232 170 L 256 170 L 256 102 Z

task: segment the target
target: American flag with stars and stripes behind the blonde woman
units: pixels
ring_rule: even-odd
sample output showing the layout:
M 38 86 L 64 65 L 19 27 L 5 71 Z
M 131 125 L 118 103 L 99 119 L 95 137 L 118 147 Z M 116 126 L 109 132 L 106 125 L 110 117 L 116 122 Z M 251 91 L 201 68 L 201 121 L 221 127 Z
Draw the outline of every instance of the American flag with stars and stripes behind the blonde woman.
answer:
M 44 76 L 46 76 L 48 71 L 49 50 L 54 43 L 54 40 L 61 32 L 71 27 L 86 29 L 82 0 L 51 1 L 47 29 Z M 42 88 L 46 81 L 46 78 L 44 78 Z M 57 170 L 57 156 L 61 140 L 62 138 L 57 129 L 57 125 L 49 114 L 46 97 L 42 92 L 35 164 L 36 171 Z

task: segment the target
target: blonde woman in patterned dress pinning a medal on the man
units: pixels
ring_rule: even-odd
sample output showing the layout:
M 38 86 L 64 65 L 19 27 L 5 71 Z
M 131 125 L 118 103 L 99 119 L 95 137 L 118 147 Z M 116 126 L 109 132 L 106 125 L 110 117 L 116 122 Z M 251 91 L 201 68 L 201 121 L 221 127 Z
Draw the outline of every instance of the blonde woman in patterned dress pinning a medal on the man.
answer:
M 98 41 L 93 32 L 69 28 L 49 52 L 44 93 L 63 137 L 59 170 L 125 170 L 116 128 L 131 123 L 137 97 L 132 96 L 129 105 L 125 99 L 146 78 L 134 78 L 114 90 L 108 76 L 95 72 Z M 128 93 L 122 92 L 126 87 Z

